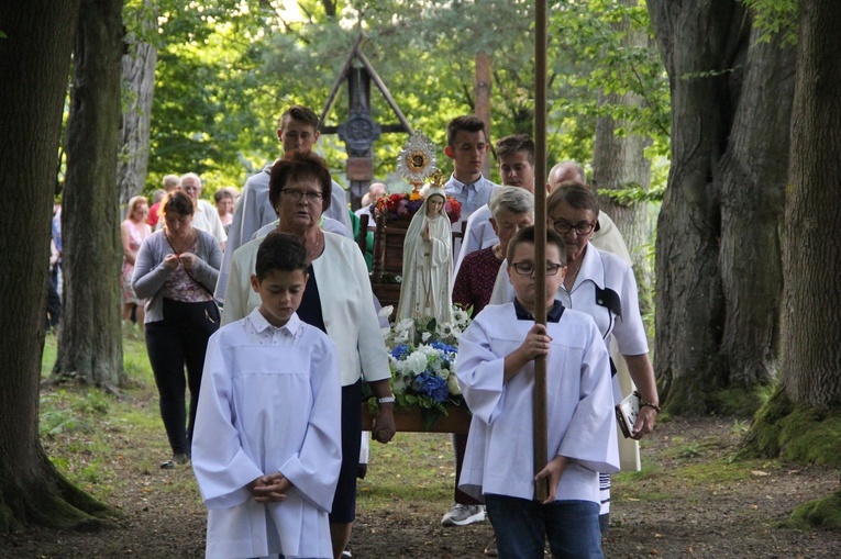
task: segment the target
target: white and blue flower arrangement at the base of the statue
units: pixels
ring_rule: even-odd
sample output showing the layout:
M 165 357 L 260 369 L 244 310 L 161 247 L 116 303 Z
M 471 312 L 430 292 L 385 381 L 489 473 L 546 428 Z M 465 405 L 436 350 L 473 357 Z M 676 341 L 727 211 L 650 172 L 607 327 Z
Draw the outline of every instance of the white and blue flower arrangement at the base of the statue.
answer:
M 387 306 L 380 315 L 390 314 L 391 309 Z M 449 415 L 452 407 L 467 411 L 455 376 L 455 362 L 458 337 L 469 324 L 469 316 L 453 305 L 452 324 L 439 324 L 434 318 L 406 318 L 384 328 L 396 407 L 420 409 L 425 431 Z M 369 400 L 369 405 L 375 407 L 374 402 Z

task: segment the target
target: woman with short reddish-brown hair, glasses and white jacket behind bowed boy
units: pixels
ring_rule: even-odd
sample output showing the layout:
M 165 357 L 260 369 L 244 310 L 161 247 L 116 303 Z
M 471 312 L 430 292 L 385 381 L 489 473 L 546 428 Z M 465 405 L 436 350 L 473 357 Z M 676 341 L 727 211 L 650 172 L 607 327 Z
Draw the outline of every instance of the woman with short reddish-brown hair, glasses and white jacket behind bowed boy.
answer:
M 395 435 L 395 399 L 365 259 L 352 239 L 319 226 L 322 212 L 330 206 L 331 189 L 330 171 L 314 154 L 290 152 L 272 167 L 269 200 L 279 217 L 277 230 L 301 239 L 310 264 L 298 315 L 335 342 L 342 368 L 342 470 L 330 513 L 333 552 L 340 558 L 356 516 L 362 377 L 379 404 L 373 435 L 380 443 Z M 261 241 L 251 241 L 233 254 L 224 324 L 244 317 L 261 303 L 251 288 Z

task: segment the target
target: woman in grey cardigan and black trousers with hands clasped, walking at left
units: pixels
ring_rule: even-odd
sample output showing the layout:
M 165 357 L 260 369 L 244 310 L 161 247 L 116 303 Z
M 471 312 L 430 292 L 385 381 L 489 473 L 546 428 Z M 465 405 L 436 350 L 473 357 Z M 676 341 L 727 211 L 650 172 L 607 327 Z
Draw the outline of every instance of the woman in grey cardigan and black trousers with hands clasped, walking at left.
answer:
M 204 351 L 220 324 L 213 287 L 222 250 L 213 235 L 192 226 L 195 206 L 185 192 L 167 194 L 161 209 L 164 227 L 141 245 L 132 288 L 139 298 L 147 299 L 146 350 L 173 449 L 173 459 L 161 467 L 175 468 L 190 458 Z M 189 422 L 184 405 L 186 387 L 190 389 Z

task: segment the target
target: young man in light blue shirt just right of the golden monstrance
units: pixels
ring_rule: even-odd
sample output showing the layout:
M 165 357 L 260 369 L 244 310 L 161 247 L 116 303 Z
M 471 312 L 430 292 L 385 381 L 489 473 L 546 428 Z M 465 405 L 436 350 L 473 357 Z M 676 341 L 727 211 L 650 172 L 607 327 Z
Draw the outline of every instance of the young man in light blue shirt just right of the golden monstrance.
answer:
M 485 123 L 473 115 L 456 116 L 446 125 L 444 153 L 453 160 L 453 175 L 444 185 L 447 195 L 462 204 L 462 220 L 486 205 L 498 185 L 482 176 L 490 150 Z M 460 224 L 453 224 L 454 228 Z

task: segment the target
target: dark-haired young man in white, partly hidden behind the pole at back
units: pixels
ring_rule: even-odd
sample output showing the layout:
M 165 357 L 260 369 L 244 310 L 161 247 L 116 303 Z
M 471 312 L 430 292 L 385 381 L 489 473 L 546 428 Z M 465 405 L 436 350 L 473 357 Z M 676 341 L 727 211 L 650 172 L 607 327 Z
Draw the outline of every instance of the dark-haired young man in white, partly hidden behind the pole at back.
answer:
M 512 134 L 497 142 L 499 175 L 506 187 L 519 187 L 534 193 L 534 141 L 528 134 Z M 458 268 L 464 257 L 476 250 L 494 246 L 499 242 L 490 224 L 490 206 L 483 205 L 467 220 L 462 238 L 462 247 L 455 259 L 453 277 L 458 276 Z

